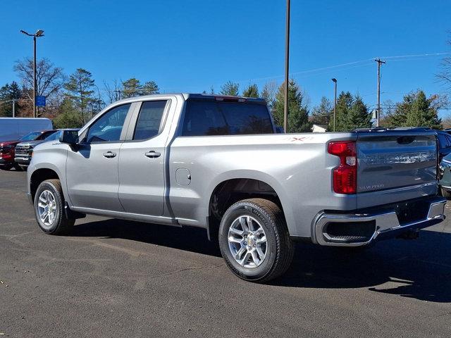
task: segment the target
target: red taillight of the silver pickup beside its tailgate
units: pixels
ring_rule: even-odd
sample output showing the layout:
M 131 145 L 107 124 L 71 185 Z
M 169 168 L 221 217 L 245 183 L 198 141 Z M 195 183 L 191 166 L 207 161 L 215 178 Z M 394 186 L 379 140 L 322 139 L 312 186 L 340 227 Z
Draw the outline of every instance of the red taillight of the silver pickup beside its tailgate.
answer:
M 353 141 L 330 142 L 328 153 L 340 157 L 333 170 L 333 191 L 337 194 L 357 192 L 357 150 Z

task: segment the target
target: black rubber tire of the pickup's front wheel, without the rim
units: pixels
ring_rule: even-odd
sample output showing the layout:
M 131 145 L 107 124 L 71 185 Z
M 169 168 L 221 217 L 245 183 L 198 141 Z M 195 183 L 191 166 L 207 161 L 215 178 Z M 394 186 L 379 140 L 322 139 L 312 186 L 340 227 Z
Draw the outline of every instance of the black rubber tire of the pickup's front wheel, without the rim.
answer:
M 38 211 L 39 196 L 41 196 L 42 192 L 44 191 L 51 192 L 55 201 L 54 210 L 56 211 L 56 213 L 54 220 L 49 225 L 46 225 L 42 222 L 41 218 L 39 217 Z M 66 218 L 66 213 L 64 212 L 63 189 L 61 189 L 61 182 L 59 180 L 46 180 L 39 184 L 39 187 L 37 187 L 35 194 L 34 206 L 37 224 L 46 234 L 68 234 L 72 229 L 75 223 L 75 219 Z

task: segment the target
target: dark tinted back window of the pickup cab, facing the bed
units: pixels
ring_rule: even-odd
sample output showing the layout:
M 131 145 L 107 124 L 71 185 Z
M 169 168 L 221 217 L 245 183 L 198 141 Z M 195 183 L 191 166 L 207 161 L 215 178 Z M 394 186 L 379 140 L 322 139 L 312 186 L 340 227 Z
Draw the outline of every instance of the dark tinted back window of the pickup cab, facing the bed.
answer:
M 264 105 L 187 101 L 182 136 L 273 133 L 271 117 Z

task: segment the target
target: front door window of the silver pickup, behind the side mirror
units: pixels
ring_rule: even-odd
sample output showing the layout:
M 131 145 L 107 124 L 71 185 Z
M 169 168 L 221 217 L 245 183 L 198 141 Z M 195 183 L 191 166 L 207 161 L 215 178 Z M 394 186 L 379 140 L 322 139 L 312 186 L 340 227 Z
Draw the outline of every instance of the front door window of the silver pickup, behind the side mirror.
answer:
M 86 136 L 87 143 L 119 141 L 130 105 L 123 104 L 104 113 L 89 127 Z

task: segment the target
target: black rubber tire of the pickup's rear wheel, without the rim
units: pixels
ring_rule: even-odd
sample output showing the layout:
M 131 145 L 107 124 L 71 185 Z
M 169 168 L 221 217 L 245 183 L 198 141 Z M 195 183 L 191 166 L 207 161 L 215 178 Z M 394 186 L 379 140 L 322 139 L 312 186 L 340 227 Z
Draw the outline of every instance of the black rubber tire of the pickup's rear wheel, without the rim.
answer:
M 266 256 L 253 268 L 240 265 L 229 249 L 228 233 L 234 220 L 240 216 L 252 216 L 266 234 Z M 288 234 L 285 217 L 280 208 L 266 199 L 245 199 L 228 208 L 219 226 L 219 247 L 230 270 L 235 275 L 252 282 L 268 282 L 290 267 L 295 245 Z

